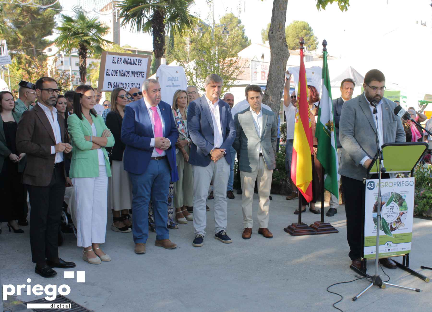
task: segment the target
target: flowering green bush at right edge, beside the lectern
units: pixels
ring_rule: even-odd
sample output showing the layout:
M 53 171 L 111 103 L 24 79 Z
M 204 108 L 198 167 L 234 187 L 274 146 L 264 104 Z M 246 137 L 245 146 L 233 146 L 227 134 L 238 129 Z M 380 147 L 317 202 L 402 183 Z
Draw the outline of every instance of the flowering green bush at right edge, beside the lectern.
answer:
M 418 164 L 414 172 L 414 214 L 426 214 L 432 207 L 432 166 Z

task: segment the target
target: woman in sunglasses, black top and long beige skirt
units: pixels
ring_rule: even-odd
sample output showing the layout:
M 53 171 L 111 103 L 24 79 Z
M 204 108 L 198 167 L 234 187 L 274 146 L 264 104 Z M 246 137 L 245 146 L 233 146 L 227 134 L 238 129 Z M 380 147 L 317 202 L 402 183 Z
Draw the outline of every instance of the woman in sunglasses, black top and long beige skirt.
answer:
M 112 211 L 111 229 L 114 232 L 131 231 L 129 209 L 132 207 L 132 185 L 127 171 L 123 169 L 123 153 L 126 146 L 121 142 L 121 124 L 124 107 L 127 105 L 126 90 L 115 88 L 111 92 L 111 111 L 106 125 L 114 136 L 114 146 L 110 151 L 111 177 L 108 178 L 108 209 Z

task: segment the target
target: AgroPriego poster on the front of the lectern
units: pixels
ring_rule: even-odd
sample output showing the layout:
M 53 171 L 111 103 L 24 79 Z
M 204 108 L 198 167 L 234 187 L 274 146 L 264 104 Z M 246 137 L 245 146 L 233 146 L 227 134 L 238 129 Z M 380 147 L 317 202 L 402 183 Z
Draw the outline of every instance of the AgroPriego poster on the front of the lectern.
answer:
M 408 254 L 413 237 L 414 178 L 381 180 L 381 203 L 378 179 L 366 180 L 364 258 L 375 258 L 378 207 L 379 257 Z

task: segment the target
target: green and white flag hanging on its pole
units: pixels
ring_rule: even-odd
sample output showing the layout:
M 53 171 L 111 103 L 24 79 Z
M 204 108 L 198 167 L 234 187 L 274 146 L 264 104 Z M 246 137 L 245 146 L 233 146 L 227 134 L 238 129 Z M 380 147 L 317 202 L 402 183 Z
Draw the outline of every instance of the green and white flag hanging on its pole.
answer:
M 328 75 L 327 51 L 323 51 L 323 70 L 321 79 L 321 102 L 315 137 L 318 139 L 317 159 L 324 168 L 324 188 L 339 198 L 337 185 L 337 145 L 334 135 L 333 103 L 331 100 L 330 77 Z

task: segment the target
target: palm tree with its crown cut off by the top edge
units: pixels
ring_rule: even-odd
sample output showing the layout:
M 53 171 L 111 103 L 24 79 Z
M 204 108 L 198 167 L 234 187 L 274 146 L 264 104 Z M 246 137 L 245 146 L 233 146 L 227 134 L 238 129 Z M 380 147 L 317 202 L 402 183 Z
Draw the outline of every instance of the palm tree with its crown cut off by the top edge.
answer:
M 116 6 L 121 9 L 122 26 L 130 23 L 130 29 L 153 35 L 157 70 L 165 54 L 165 35 L 194 29 L 197 18 L 189 14 L 193 4 L 194 0 L 121 0 Z

